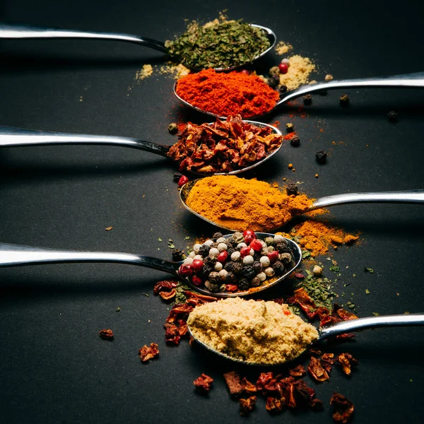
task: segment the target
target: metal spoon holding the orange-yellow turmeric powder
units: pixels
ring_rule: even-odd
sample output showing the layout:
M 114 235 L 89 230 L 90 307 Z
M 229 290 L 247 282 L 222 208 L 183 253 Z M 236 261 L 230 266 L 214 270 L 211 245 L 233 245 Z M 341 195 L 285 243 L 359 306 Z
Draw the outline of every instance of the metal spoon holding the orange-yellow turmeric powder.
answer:
M 231 228 L 230 225 L 222 225 L 214 222 L 204 216 L 201 216 L 200 213 L 197 213 L 192 208 L 187 205 L 187 197 L 189 193 L 192 191 L 196 182 L 199 179 L 194 179 L 192 181 L 184 184 L 182 189 L 179 191 L 179 199 L 182 201 L 182 204 L 185 208 L 194 213 L 194 215 L 199 218 L 206 220 L 207 223 L 212 225 L 216 225 L 217 227 L 223 228 L 225 230 L 230 231 L 238 231 L 240 228 Z M 401 192 L 377 192 L 377 193 L 346 193 L 346 194 L 334 194 L 333 196 L 325 196 L 316 199 L 314 203 L 307 209 L 307 211 L 303 213 L 307 213 L 310 211 L 314 211 L 315 209 L 327 208 L 329 206 L 336 205 L 346 205 L 346 204 L 354 204 L 354 203 L 404 203 L 404 204 L 423 204 L 424 203 L 424 189 L 417 190 L 404 190 Z M 300 215 L 300 214 L 299 214 Z M 293 215 L 290 219 L 295 218 Z M 287 224 L 289 221 L 284 223 Z M 276 228 L 267 228 L 266 230 L 274 231 Z

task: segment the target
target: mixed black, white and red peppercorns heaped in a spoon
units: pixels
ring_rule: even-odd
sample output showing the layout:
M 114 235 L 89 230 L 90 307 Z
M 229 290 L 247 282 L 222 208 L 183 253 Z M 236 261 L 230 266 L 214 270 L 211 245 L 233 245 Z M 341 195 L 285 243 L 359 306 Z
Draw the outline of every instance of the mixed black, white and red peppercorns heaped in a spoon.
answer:
M 293 253 L 287 239 L 274 235 L 260 240 L 252 230 L 223 237 L 216 232 L 179 267 L 179 275 L 211 293 L 235 293 L 257 288 L 292 271 Z

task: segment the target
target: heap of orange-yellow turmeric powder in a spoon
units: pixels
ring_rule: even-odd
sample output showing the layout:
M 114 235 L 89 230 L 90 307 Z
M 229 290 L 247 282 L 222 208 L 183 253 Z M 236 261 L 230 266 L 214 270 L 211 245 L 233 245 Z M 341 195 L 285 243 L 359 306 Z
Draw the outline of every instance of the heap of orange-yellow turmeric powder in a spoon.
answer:
M 307 211 L 313 199 L 288 195 L 271 184 L 235 175 L 199 179 L 187 196 L 187 206 L 229 230 L 271 231 Z

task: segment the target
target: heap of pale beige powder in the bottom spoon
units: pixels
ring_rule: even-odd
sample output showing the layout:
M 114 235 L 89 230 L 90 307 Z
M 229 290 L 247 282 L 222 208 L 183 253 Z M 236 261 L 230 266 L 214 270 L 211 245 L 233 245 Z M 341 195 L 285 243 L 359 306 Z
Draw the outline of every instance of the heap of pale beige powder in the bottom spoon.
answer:
M 236 360 L 276 365 L 297 358 L 318 331 L 288 310 L 264 300 L 228 298 L 194 308 L 187 320 L 195 338 Z

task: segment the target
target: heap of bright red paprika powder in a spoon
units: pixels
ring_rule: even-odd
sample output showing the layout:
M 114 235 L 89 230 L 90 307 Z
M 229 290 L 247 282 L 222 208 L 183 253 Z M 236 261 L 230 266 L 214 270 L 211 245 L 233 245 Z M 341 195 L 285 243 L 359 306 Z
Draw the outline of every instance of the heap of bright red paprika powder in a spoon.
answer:
M 220 117 L 259 116 L 273 109 L 279 99 L 276 90 L 255 74 L 223 73 L 213 69 L 179 78 L 176 92 L 191 105 Z

